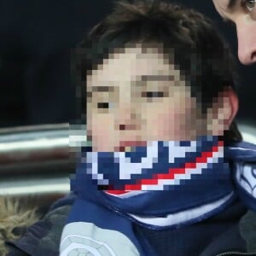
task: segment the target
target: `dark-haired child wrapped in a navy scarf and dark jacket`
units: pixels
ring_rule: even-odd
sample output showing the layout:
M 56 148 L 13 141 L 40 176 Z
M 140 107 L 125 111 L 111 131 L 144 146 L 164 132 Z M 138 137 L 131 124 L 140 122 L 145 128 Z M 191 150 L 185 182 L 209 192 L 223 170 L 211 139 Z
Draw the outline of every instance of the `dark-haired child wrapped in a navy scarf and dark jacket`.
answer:
M 238 143 L 232 58 L 211 22 L 170 3 L 118 3 L 78 52 L 91 145 L 73 194 L 13 245 L 61 256 L 253 250 L 242 224 L 256 210 L 255 148 Z

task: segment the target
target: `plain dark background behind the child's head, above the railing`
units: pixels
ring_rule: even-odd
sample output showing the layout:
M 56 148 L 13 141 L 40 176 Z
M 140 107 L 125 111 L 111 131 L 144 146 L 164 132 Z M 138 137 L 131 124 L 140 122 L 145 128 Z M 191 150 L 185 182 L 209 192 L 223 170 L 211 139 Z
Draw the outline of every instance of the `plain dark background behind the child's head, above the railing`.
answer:
M 237 60 L 236 28 L 224 24 L 212 1 L 176 3 L 198 9 L 215 20 Z M 75 118 L 70 51 L 111 6 L 111 0 L 0 0 L 0 127 L 61 123 Z M 238 63 L 238 67 L 238 119 L 253 123 L 256 64 L 243 67 Z

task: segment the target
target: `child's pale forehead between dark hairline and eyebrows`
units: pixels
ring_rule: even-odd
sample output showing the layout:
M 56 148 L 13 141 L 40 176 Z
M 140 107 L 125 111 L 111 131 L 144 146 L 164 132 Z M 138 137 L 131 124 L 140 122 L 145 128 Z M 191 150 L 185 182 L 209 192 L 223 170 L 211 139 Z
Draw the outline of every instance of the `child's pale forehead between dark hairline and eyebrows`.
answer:
M 180 80 L 172 49 L 166 54 L 160 44 L 126 44 L 100 62 L 87 73 L 87 82 Z

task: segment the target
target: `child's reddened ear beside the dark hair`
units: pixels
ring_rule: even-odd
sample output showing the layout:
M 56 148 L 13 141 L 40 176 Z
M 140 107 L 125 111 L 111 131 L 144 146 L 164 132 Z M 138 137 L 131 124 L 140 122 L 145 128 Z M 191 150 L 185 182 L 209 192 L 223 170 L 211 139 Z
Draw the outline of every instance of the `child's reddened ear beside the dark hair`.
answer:
M 207 111 L 207 130 L 214 136 L 224 135 L 229 130 L 238 110 L 238 97 L 231 87 L 218 94 Z

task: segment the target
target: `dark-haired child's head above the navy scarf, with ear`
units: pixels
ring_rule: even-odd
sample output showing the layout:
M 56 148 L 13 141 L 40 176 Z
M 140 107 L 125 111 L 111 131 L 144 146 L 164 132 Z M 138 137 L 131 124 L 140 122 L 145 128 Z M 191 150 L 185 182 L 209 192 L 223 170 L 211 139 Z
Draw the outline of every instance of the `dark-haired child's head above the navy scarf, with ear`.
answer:
M 238 102 L 224 41 L 203 15 L 151 2 L 119 3 L 78 49 L 85 49 L 79 67 L 96 149 L 222 136 L 230 126 L 231 139 L 240 139 L 231 125 Z

